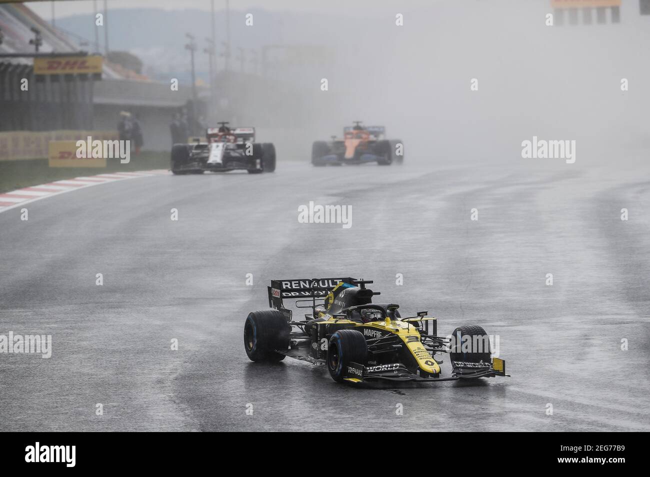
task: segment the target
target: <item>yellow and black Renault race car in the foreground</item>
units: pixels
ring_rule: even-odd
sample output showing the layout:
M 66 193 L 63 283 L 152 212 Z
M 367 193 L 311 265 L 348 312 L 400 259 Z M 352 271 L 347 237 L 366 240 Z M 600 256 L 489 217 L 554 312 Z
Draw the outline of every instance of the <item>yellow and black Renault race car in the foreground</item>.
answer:
M 354 278 L 271 280 L 272 310 L 252 312 L 244 324 L 244 347 L 252 361 L 281 361 L 285 356 L 327 365 L 337 382 L 434 382 L 507 376 L 506 363 L 492 358 L 489 337 L 477 325 L 460 326 L 451 337 L 437 336 L 437 321 L 419 312 L 402 318 L 397 304 L 372 303 L 380 295 Z M 302 321 L 292 319 L 284 300 L 311 308 Z M 441 376 L 448 353 L 451 376 Z

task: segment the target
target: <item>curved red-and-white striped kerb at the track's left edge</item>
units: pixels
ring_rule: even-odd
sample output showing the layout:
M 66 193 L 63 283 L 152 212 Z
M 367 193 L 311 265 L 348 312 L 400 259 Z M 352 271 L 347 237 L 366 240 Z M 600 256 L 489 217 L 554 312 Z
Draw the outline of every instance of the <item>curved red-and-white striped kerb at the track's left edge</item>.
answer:
M 39 184 L 38 186 L 28 186 L 22 189 L 0 193 L 0 203 L 10 203 L 11 205 L 0 205 L 0 213 L 5 212 L 16 207 L 21 207 L 34 201 L 40 201 L 47 197 L 63 194 L 70 191 L 85 189 L 87 187 L 99 186 L 100 184 L 107 184 L 108 182 L 116 182 L 118 180 L 135 179 L 138 177 L 152 177 L 155 175 L 168 175 L 170 172 L 164 169 L 154 169 L 152 171 L 134 171 L 133 173 L 117 173 L 117 174 L 99 174 L 90 177 L 77 177 L 74 179 L 55 180 L 47 184 Z M 40 190 L 32 190 L 32 188 Z

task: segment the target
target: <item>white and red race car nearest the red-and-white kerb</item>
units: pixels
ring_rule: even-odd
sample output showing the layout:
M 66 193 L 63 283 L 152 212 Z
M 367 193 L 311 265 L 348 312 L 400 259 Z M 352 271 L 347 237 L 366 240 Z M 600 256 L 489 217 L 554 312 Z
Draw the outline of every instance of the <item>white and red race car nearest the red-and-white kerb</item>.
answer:
M 255 128 L 229 128 L 226 122 L 219 124 L 218 128 L 207 128 L 206 142 L 174 144 L 172 173 L 202 174 L 205 171 L 246 169 L 249 174 L 259 174 L 276 170 L 276 148 L 272 143 L 256 143 Z

